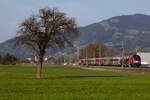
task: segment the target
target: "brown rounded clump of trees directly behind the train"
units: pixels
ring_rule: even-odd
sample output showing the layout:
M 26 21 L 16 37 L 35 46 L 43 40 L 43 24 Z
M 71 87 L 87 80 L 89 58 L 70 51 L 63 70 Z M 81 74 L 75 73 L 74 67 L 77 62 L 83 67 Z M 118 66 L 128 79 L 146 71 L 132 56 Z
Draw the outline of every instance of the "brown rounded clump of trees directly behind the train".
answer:
M 102 43 L 93 43 L 80 50 L 80 59 L 115 56 L 115 50 Z

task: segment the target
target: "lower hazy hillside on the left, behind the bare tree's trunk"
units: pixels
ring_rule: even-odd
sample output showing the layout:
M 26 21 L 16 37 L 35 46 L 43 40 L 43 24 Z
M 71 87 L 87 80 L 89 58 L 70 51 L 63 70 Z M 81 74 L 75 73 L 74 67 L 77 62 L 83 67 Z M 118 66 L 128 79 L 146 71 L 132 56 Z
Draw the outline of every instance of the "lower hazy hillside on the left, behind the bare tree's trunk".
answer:
M 34 58 L 35 53 L 26 45 L 14 47 L 15 38 L 9 39 L 0 44 L 0 55 L 4 56 L 6 53 L 13 54 L 19 58 Z M 46 55 L 54 55 L 58 49 L 47 49 Z

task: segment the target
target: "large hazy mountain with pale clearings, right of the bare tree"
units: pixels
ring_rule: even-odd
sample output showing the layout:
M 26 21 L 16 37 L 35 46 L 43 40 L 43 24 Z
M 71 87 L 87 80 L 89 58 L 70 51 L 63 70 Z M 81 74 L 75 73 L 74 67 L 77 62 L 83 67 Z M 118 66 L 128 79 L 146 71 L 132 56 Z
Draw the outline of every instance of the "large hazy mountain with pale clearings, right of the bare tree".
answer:
M 122 41 L 129 47 L 150 46 L 150 16 L 136 14 L 110 18 L 80 29 L 81 44 L 103 42 L 116 49 Z

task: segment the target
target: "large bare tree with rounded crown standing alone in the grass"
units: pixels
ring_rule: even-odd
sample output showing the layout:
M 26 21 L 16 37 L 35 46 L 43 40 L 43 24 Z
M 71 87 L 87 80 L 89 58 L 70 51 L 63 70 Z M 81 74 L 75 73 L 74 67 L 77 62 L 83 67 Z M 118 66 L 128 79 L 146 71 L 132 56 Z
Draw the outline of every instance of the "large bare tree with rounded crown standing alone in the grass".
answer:
M 19 26 L 16 45 L 28 45 L 38 56 L 36 78 L 41 78 L 43 58 L 49 47 L 72 46 L 78 35 L 74 18 L 68 18 L 57 8 L 43 8 L 38 14 L 25 19 Z

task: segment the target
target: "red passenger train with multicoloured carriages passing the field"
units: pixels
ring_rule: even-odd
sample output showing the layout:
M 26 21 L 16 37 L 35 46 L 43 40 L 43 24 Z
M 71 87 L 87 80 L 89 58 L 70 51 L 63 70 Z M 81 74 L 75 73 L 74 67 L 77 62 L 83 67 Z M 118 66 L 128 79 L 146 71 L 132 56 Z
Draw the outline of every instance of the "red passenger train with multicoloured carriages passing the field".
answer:
M 99 65 L 99 66 L 125 66 L 139 67 L 141 66 L 141 58 L 139 55 L 124 57 L 101 57 L 80 59 L 79 65 Z

